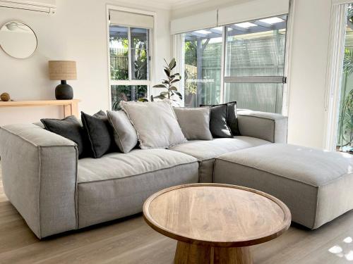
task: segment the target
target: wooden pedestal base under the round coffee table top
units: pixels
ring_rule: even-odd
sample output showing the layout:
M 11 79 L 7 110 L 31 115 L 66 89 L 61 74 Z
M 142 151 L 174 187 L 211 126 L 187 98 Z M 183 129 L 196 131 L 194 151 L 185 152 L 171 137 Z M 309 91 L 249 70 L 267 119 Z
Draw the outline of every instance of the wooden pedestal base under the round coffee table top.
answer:
M 178 241 L 175 264 L 252 264 L 249 246 L 220 248 Z

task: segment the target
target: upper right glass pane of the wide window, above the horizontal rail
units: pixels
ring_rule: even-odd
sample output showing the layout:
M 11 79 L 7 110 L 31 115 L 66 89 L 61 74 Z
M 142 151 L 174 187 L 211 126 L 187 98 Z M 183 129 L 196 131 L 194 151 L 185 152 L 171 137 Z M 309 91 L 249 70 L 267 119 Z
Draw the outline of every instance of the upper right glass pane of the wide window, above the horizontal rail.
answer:
M 287 15 L 227 26 L 225 76 L 283 76 Z

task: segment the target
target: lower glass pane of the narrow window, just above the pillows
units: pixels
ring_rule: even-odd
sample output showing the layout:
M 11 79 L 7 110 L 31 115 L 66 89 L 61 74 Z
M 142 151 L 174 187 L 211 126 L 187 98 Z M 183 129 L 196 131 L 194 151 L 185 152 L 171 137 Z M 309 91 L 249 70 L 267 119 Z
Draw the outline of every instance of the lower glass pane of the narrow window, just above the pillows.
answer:
M 147 85 L 112 85 L 112 110 L 119 110 L 120 101 L 147 98 Z

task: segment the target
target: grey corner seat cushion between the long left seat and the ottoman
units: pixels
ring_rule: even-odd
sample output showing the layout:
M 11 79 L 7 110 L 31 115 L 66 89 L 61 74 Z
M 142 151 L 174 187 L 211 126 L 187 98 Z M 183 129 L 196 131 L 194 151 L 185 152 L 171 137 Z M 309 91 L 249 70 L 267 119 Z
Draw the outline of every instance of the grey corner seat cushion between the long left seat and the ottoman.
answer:
M 194 140 L 174 146 L 171 150 L 186 153 L 197 158 L 200 163 L 199 181 L 213 182 L 213 165 L 217 156 L 264 144 L 270 144 L 270 142 L 254 137 L 237 136 L 232 139 Z

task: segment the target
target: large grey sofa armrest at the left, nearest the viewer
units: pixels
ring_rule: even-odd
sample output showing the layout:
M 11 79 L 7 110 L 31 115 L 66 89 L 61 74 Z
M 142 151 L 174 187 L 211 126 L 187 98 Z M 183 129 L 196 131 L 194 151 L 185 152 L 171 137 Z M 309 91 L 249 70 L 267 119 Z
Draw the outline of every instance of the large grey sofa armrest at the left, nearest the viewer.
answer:
M 74 142 L 37 125 L 0 128 L 4 191 L 38 238 L 77 228 Z

